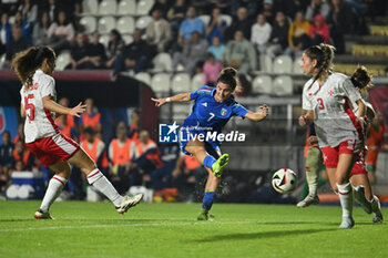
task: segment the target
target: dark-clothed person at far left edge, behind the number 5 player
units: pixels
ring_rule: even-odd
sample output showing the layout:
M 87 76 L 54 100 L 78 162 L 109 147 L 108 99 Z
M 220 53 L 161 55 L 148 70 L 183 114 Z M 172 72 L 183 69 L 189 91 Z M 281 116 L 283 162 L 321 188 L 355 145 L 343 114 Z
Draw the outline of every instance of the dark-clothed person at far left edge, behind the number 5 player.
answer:
M 0 187 L 6 187 L 10 176 L 10 171 L 14 164 L 13 149 L 14 145 L 11 142 L 11 134 L 4 131 L 1 135 L 2 145 L 0 146 Z

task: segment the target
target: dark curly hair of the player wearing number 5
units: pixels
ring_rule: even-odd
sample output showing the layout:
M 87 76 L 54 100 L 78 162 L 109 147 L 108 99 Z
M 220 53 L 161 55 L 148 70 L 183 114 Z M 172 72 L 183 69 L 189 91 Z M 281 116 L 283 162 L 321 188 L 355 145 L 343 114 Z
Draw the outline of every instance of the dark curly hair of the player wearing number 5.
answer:
M 31 47 L 16 54 L 11 68 L 16 70 L 21 83 L 29 86 L 32 84 L 34 72 L 42 66 L 44 59 L 49 59 L 50 62 L 54 63 L 54 51 L 48 47 Z

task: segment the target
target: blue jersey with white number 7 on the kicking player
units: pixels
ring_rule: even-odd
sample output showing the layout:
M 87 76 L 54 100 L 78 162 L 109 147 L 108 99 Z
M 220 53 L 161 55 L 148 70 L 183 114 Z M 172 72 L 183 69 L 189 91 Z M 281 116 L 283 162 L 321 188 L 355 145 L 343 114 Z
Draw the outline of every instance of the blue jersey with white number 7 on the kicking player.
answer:
M 232 97 L 223 103 L 216 102 L 214 99 L 216 89 L 210 86 L 202 86 L 192 92 L 190 97 L 194 100 L 192 113 L 184 121 L 181 126 L 180 145 L 181 149 L 185 152 L 185 146 L 191 140 L 190 135 L 206 134 L 206 132 L 221 133 L 222 128 L 229 121 L 232 116 L 244 117 L 248 110 L 238 104 Z M 206 141 L 214 149 L 219 149 L 218 141 Z

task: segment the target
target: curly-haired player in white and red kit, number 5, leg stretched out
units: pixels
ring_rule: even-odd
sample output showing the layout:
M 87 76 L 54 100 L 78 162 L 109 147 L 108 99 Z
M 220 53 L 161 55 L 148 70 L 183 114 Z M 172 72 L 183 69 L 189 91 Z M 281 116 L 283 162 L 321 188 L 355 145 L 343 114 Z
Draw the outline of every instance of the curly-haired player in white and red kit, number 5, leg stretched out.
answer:
M 59 105 L 54 79 L 50 76 L 55 68 L 55 53 L 47 47 L 32 47 L 16 55 L 12 66 L 22 82 L 21 116 L 25 117 L 25 144 L 44 165 L 55 172 L 34 218 L 51 218 L 50 206 L 67 184 L 71 167 L 78 166 L 85 173 L 89 184 L 104 194 L 124 214 L 142 199 L 142 195 L 121 196 L 99 171 L 94 162 L 71 138 L 62 135 L 54 123 L 55 114 L 80 116 L 85 106 L 73 109 Z

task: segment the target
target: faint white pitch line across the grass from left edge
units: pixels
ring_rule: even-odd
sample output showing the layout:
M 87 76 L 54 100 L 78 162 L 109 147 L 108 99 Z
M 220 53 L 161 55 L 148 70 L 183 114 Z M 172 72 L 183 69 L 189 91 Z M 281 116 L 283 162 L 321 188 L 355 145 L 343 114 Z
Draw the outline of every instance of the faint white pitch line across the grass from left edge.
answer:
M 211 224 L 256 224 L 257 221 L 210 221 Z M 205 223 L 140 223 L 140 224 L 114 224 L 114 225 L 81 225 L 81 226 L 53 226 L 53 227 L 29 227 L 29 228 L 4 228 L 0 233 L 55 230 L 55 229 L 81 229 L 81 228 L 110 228 L 110 227 L 169 227 L 169 226 L 197 226 Z

